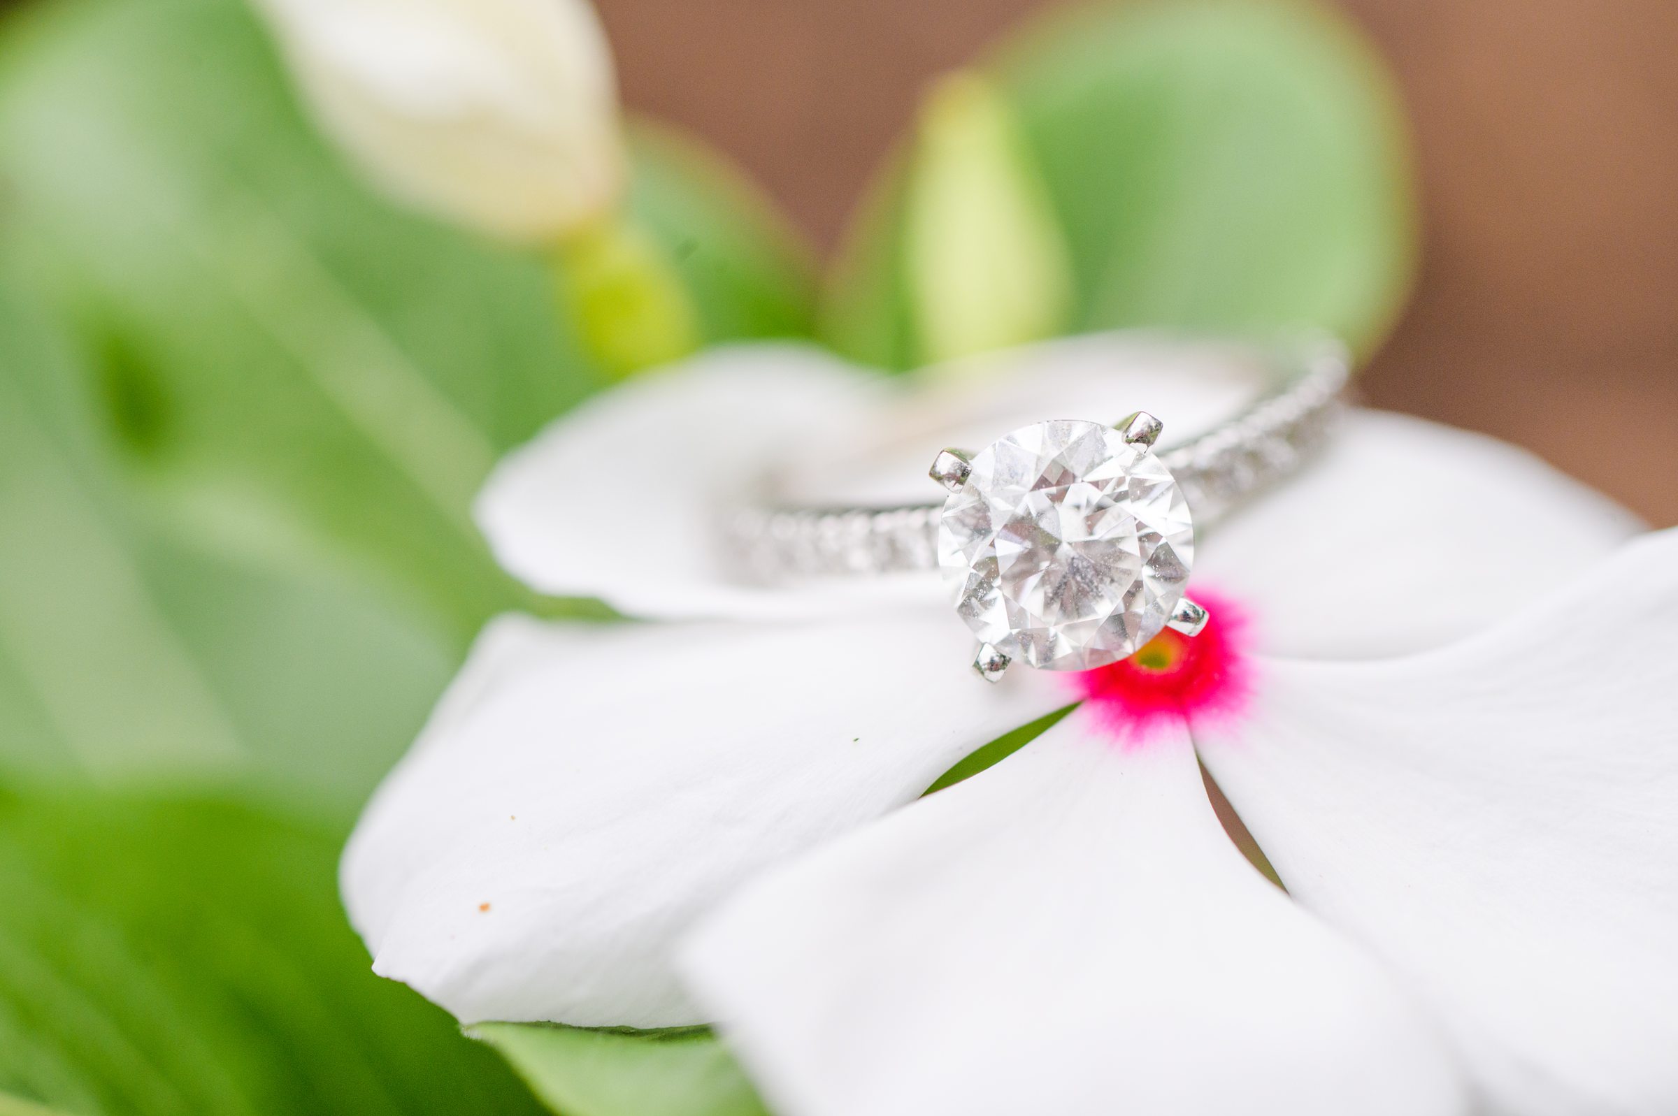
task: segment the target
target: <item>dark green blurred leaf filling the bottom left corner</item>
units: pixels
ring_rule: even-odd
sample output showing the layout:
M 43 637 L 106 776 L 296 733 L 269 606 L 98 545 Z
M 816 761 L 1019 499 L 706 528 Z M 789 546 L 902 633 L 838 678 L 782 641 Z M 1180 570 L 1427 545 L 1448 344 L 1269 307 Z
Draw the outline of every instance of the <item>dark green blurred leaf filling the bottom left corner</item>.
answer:
M 539 1111 L 490 1051 L 367 970 L 336 854 L 327 832 L 227 800 L 0 797 L 12 1111 Z

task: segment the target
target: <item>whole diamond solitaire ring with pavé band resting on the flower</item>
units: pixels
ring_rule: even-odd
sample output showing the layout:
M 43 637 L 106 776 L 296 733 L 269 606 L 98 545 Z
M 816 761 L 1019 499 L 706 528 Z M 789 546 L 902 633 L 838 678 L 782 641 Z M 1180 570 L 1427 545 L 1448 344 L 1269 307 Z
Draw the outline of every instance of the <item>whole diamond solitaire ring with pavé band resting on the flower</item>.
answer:
M 1156 451 L 1161 423 L 1049 420 L 988 446 L 943 450 L 943 503 L 760 507 L 733 544 L 757 572 L 824 576 L 936 567 L 978 638 L 975 670 L 1092 670 L 1206 609 L 1185 591 L 1195 529 L 1292 473 L 1324 440 L 1347 379 L 1344 349 L 1265 352 L 1277 386 L 1233 420 Z

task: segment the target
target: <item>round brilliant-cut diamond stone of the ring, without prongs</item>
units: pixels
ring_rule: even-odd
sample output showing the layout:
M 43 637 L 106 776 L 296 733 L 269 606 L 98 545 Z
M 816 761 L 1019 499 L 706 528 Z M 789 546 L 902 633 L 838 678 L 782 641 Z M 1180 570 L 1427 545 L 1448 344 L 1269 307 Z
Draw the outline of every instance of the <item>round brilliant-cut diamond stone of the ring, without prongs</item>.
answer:
M 1037 423 L 985 446 L 938 519 L 968 628 L 1045 670 L 1134 654 L 1171 619 L 1193 557 L 1171 473 L 1099 423 Z

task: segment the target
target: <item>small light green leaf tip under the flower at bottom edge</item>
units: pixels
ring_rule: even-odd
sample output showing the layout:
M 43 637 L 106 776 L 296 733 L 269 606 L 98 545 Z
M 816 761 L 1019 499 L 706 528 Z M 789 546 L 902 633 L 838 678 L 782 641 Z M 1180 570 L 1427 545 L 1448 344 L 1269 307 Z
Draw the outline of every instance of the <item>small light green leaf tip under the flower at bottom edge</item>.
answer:
M 767 1116 L 752 1082 L 703 1027 L 586 1030 L 478 1024 L 483 1039 L 564 1116 Z

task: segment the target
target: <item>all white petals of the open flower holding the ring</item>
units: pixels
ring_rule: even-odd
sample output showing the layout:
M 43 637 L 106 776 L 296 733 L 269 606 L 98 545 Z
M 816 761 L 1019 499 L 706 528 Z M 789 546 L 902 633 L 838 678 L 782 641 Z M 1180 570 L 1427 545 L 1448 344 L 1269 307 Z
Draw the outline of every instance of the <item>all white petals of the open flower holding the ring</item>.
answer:
M 928 446 L 1049 415 L 1193 433 L 1250 386 L 1215 361 L 1092 337 L 904 399 L 733 349 L 557 421 L 497 554 L 666 623 L 490 626 L 346 853 L 378 972 L 468 1022 L 720 1020 L 784 1116 L 1678 1111 L 1678 534 L 1359 411 L 1198 547 L 1238 708 L 1126 740 L 1091 700 L 921 800 L 1069 680 L 978 683 L 935 587 L 713 549 L 777 446 L 886 430 L 920 451 L 846 495 L 925 498 Z

